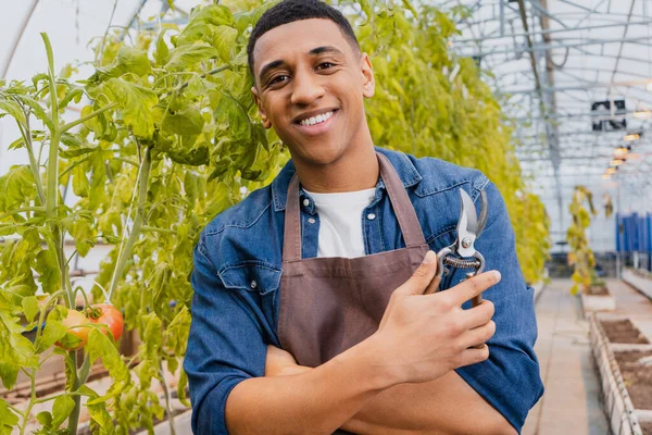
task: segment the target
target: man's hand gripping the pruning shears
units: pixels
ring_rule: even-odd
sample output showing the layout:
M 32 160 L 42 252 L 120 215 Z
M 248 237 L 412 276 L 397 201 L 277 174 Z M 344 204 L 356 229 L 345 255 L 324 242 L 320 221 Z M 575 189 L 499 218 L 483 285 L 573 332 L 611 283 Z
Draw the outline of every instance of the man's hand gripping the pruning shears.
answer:
M 496 332 L 493 303 L 463 310 L 462 304 L 500 281 L 490 271 L 435 293 L 437 256 L 429 251 L 412 277 L 397 288 L 378 331 L 371 337 L 378 365 L 399 383 L 427 382 L 489 358 L 485 344 Z

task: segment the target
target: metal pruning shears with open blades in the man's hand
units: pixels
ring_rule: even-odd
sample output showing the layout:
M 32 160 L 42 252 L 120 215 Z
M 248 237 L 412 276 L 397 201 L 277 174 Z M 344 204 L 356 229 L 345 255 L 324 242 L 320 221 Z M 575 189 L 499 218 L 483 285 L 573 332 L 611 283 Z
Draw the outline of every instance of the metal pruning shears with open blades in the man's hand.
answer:
M 447 265 L 454 269 L 474 269 L 473 272 L 466 274 L 466 278 L 475 276 L 485 270 L 485 257 L 475 249 L 474 244 L 487 224 L 487 194 L 485 190 L 480 191 L 482 210 L 479 217 L 468 194 L 460 189 L 460 196 L 462 197 L 462 207 L 460 210 L 460 220 L 457 221 L 455 241 L 437 252 L 438 264 L 436 276 L 439 278 L 450 273 L 450 270 L 446 268 Z M 482 297 L 480 295 L 472 299 L 473 307 L 481 302 Z

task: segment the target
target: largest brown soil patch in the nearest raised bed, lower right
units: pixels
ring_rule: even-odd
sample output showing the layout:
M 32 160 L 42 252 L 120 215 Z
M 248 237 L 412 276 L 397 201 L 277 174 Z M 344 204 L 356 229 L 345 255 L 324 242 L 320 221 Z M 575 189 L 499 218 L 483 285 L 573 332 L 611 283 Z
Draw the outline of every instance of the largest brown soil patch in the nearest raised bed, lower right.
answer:
M 642 365 L 638 362 L 643 357 L 652 356 L 652 351 L 632 350 L 614 352 L 614 355 L 634 408 L 652 410 L 652 365 Z M 645 430 L 643 432 L 652 434 Z

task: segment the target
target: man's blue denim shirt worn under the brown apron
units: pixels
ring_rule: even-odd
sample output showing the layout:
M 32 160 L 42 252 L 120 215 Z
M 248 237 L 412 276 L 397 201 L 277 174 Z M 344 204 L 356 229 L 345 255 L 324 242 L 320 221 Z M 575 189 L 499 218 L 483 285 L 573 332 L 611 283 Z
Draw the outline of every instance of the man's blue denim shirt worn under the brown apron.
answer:
M 435 251 L 455 238 L 457 189 L 465 189 L 478 210 L 479 192 L 487 192 L 487 226 L 475 246 L 485 256 L 486 270 L 502 274 L 501 282 L 485 291 L 485 298 L 496 306 L 497 331 L 488 341 L 489 359 L 457 369 L 457 373 L 521 431 L 528 410 L 543 394 L 543 385 L 532 349 L 537 338 L 532 289 L 518 265 L 514 232 L 501 194 L 479 171 L 438 159 L 376 150 L 397 170 L 426 243 Z M 294 172 L 292 162 L 288 162 L 271 185 L 217 215 L 195 249 L 192 324 L 184 369 L 196 434 L 227 433 L 227 396 L 239 382 L 264 376 L 267 344 L 280 347 L 277 323 L 284 213 Z M 301 190 L 300 197 L 302 257 L 314 258 L 319 216 L 310 196 Z M 371 213 L 375 219 L 367 217 Z M 383 179 L 361 219 L 366 254 L 405 246 Z M 440 288 L 450 288 L 463 278 L 462 270 L 451 273 Z

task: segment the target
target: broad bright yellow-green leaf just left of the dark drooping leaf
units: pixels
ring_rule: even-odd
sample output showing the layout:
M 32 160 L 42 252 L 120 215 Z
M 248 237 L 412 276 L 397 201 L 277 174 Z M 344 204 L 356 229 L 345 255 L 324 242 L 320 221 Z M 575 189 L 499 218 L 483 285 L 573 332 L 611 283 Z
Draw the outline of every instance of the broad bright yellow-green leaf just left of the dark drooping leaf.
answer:
M 152 137 L 154 133 L 153 107 L 159 102 L 156 94 L 122 78 L 111 78 L 106 82 L 122 110 L 123 120 L 136 136 Z

